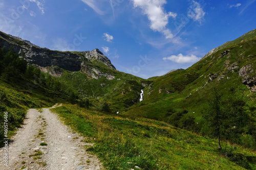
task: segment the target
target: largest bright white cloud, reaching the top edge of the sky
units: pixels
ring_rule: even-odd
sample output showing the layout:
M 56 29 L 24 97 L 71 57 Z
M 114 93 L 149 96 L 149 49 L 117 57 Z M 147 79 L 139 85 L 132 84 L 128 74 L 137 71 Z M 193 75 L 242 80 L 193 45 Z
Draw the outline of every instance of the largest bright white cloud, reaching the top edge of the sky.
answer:
M 166 28 L 169 17 L 175 18 L 176 13 L 164 11 L 165 0 L 132 0 L 134 7 L 140 7 L 147 18 L 151 21 L 150 28 L 161 32 L 165 38 L 173 38 L 172 31 Z

